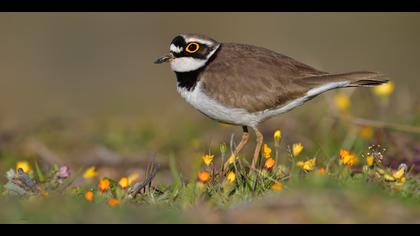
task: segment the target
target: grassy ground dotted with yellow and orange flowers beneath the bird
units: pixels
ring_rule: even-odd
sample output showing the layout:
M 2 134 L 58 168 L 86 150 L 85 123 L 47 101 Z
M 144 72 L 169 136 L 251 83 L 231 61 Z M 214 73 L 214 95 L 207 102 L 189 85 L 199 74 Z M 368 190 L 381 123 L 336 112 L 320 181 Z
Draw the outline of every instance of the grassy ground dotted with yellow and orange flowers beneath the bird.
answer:
M 420 223 L 420 115 L 402 130 L 355 125 L 339 103 L 335 118 L 268 122 L 256 170 L 253 143 L 231 158 L 238 134 L 211 122 L 54 120 L 2 131 L 0 222 Z

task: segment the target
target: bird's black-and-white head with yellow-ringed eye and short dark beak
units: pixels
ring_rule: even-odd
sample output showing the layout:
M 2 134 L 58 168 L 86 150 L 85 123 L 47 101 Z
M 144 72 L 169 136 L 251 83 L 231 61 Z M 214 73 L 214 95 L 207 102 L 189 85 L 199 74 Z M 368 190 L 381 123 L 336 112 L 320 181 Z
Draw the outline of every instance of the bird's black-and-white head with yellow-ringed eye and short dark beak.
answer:
M 168 62 L 175 72 L 195 71 L 206 65 L 220 43 L 204 35 L 180 34 L 169 47 L 169 54 L 155 61 L 155 64 Z

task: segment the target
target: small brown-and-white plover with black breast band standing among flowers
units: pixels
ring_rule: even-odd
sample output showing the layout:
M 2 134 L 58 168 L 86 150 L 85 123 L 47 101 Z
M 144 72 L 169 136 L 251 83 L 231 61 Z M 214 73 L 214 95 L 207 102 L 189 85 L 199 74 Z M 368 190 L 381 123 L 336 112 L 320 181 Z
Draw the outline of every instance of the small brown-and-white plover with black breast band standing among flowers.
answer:
M 256 169 L 263 145 L 259 130 L 263 121 L 332 89 L 388 82 L 378 72 L 329 73 L 263 47 L 221 43 L 194 33 L 176 35 L 169 54 L 154 63 L 170 64 L 178 93 L 199 112 L 218 122 L 242 127 L 242 138 L 233 156 L 237 157 L 247 144 L 249 128 L 253 129 L 257 142 L 251 170 Z

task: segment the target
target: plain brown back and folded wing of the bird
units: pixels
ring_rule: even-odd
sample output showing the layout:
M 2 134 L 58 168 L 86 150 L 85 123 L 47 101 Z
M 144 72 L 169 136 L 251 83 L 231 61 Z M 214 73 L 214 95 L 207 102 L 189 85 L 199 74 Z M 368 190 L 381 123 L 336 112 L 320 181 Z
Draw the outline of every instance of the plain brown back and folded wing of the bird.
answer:
M 256 112 L 304 96 L 312 86 L 297 79 L 326 74 L 265 48 L 224 43 L 199 80 L 222 104 Z

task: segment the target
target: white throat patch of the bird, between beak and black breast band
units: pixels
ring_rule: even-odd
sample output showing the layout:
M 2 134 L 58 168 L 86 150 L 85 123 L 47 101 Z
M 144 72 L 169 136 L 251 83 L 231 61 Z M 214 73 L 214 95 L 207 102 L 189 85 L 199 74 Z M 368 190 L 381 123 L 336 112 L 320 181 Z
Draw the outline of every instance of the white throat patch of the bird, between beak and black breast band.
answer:
M 213 54 L 219 49 L 219 45 L 216 46 L 213 51 L 207 55 L 205 59 L 199 59 L 194 57 L 180 57 L 175 58 L 171 61 L 171 69 L 175 72 L 188 72 L 195 71 L 205 66 L 207 61 L 213 56 Z

